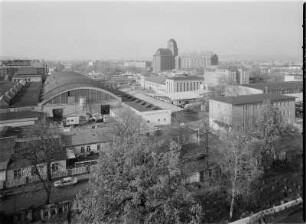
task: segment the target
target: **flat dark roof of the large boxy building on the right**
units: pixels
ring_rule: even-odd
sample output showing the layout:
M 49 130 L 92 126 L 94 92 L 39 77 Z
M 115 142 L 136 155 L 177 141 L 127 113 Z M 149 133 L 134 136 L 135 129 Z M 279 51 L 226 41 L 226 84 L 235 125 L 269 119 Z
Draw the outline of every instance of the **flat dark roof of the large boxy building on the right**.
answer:
M 276 95 L 276 94 L 252 94 L 252 95 L 240 95 L 234 97 L 215 97 L 212 100 L 229 103 L 232 105 L 244 105 L 244 104 L 258 104 L 265 100 L 271 101 L 294 101 L 295 97 L 286 95 Z

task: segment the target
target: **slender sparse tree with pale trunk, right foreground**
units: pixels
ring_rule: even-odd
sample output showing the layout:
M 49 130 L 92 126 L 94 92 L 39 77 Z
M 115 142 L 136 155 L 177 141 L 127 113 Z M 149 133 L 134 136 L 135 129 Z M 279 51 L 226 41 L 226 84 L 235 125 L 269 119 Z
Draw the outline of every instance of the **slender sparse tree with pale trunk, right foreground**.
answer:
M 254 156 L 251 138 L 232 131 L 223 136 L 222 142 L 223 147 L 218 147 L 211 155 L 224 175 L 230 196 L 229 220 L 232 220 L 237 196 L 252 195 L 252 184 L 262 175 L 262 169 Z

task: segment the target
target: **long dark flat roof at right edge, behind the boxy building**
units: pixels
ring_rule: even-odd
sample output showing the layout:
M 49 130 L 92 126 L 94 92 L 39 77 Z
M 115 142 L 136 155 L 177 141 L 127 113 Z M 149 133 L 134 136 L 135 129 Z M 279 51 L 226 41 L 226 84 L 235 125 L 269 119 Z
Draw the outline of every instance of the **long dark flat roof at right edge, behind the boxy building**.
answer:
M 242 86 L 251 87 L 254 89 L 261 89 L 261 90 L 265 90 L 266 88 L 268 88 L 268 91 L 303 89 L 303 81 L 268 82 L 268 83 L 259 83 L 259 84 L 245 84 Z

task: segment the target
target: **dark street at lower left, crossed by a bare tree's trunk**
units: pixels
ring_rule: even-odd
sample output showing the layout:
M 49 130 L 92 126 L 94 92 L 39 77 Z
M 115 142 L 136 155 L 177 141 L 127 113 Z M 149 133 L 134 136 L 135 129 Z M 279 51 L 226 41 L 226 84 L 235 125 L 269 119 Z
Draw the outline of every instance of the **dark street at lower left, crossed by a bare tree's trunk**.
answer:
M 53 188 L 51 192 L 51 203 L 73 199 L 82 189 L 85 189 L 88 181 L 80 182 L 75 186 L 65 188 Z M 23 194 L 8 196 L 0 202 L 0 211 L 14 212 L 16 210 L 28 209 L 29 207 L 38 207 L 45 204 L 46 193 L 44 189 L 37 189 Z

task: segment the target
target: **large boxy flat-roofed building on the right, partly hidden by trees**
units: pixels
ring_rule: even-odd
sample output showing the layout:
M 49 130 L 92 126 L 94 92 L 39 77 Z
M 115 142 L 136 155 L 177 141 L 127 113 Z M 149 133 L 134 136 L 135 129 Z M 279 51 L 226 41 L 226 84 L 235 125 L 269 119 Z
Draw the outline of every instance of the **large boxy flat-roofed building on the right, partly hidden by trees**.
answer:
M 276 94 L 253 94 L 209 99 L 209 124 L 212 128 L 251 130 L 264 101 L 270 100 L 281 111 L 285 121 L 295 122 L 295 98 Z

